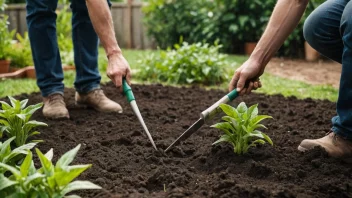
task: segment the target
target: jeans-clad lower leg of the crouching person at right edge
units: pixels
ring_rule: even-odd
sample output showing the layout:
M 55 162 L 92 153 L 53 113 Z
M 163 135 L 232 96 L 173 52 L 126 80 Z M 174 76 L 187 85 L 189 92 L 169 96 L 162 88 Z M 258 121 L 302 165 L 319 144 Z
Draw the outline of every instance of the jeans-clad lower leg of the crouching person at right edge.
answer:
M 344 43 L 342 73 L 337 100 L 338 116 L 332 119 L 332 130 L 339 136 L 352 140 L 352 1 L 344 9 L 340 30 Z

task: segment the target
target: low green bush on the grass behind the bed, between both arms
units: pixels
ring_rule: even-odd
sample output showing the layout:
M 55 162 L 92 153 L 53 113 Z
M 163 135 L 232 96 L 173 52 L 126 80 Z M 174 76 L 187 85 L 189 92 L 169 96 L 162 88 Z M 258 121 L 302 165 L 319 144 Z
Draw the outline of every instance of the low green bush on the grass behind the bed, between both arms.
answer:
M 217 84 L 225 80 L 225 55 L 219 54 L 221 46 L 196 43 L 175 45 L 175 49 L 149 54 L 139 61 L 142 80 L 176 84 Z

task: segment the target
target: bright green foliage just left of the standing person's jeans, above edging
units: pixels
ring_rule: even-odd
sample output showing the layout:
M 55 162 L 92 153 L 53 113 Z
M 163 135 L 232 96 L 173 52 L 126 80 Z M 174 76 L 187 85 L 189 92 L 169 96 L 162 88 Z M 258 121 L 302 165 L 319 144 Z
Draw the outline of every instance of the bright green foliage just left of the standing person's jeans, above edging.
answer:
M 11 51 L 11 66 L 23 68 L 33 66 L 32 50 L 29 42 L 28 32 L 22 37 L 19 33 L 16 34 L 18 43 L 13 45 Z

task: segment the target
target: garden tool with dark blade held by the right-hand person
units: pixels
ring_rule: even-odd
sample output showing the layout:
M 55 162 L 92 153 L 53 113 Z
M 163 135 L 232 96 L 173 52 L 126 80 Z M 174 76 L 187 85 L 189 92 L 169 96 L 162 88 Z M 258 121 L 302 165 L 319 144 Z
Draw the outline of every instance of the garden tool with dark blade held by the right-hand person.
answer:
M 238 93 L 236 89 L 222 97 L 219 101 L 214 103 L 212 106 L 210 106 L 208 109 L 203 111 L 200 114 L 200 118 L 198 119 L 197 122 L 195 122 L 192 126 L 190 126 L 180 137 L 178 137 L 166 150 L 170 150 L 173 146 L 179 144 L 181 141 L 186 140 L 189 138 L 193 133 L 195 133 L 198 129 L 200 129 L 203 124 L 205 124 L 207 121 L 211 120 L 216 114 L 221 112 L 221 109 L 219 107 L 220 104 L 222 103 L 228 103 L 232 100 L 234 100 L 238 96 Z

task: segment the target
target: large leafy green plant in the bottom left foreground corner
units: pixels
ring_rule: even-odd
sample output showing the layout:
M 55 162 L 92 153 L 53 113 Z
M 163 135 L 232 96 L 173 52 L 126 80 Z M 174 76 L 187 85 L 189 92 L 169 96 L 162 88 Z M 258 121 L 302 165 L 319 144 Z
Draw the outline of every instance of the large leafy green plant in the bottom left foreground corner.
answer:
M 80 146 L 66 152 L 55 166 L 51 161 L 53 158 L 52 149 L 45 155 L 36 149 L 41 163 L 40 169 L 35 168 L 31 152 L 28 152 L 20 167 L 0 163 L 1 168 L 12 174 L 9 178 L 0 174 L 0 197 L 76 198 L 79 196 L 66 195 L 75 190 L 101 189 L 100 186 L 89 181 L 73 181 L 92 166 L 91 164 L 70 166 Z

